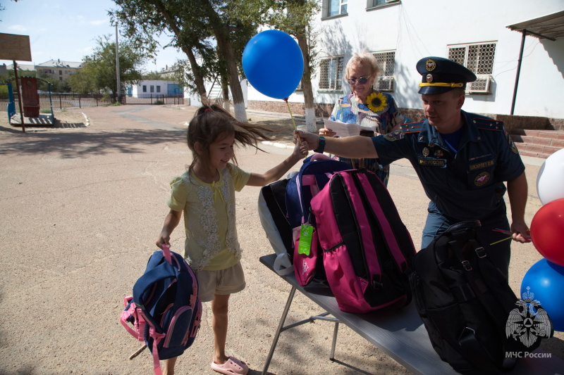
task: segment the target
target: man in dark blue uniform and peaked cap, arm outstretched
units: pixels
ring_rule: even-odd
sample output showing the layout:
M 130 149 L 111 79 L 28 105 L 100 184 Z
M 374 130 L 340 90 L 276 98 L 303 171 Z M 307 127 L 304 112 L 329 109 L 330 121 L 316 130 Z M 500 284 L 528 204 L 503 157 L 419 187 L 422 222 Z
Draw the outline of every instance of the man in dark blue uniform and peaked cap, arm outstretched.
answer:
M 427 57 L 417 63 L 422 75 L 426 120 L 388 134 L 367 138 L 327 138 L 302 133 L 317 152 L 345 158 L 380 158 L 388 165 L 407 158 L 415 168 L 429 202 L 422 248 L 451 224 L 479 220 L 482 245 L 490 259 L 508 275 L 510 242 L 529 242 L 525 223 L 527 179 L 525 165 L 503 127 L 489 117 L 462 110 L 467 82 L 476 75 L 446 58 Z M 505 184 L 507 182 L 507 189 Z M 512 224 L 503 195 L 508 191 Z

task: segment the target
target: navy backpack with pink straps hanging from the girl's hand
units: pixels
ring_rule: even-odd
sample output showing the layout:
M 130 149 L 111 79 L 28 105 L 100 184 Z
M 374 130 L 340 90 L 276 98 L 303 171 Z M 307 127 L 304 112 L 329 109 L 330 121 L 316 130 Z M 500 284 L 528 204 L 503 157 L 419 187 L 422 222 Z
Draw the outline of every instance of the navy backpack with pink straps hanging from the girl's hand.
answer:
M 145 341 L 156 375 L 161 374 L 159 360 L 181 355 L 200 328 L 202 302 L 195 274 L 168 246 L 151 255 L 145 273 L 133 286 L 133 296 L 126 297 L 124 304 L 120 322 L 133 337 Z

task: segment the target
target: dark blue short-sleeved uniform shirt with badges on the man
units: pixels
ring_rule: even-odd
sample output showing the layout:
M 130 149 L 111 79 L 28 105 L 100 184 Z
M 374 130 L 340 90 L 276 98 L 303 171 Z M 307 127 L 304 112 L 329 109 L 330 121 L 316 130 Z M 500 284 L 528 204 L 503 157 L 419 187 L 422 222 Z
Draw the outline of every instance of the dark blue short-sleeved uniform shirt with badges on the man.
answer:
M 525 171 L 503 122 L 462 112 L 464 126 L 458 153 L 427 120 L 372 141 L 384 165 L 407 158 L 425 193 L 453 222 L 482 220 L 504 206 L 504 181 Z

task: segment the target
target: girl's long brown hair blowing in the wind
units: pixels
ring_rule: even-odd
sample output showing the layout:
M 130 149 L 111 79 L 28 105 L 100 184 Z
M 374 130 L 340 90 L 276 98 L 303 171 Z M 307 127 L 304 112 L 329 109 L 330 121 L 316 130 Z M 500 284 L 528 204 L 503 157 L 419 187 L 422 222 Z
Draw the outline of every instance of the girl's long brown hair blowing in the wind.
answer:
M 209 146 L 227 136 L 235 135 L 235 143 L 243 147 L 252 146 L 263 151 L 257 146 L 257 141 L 259 139 L 273 140 L 264 132 L 272 131 L 267 127 L 238 121 L 221 106 L 221 102 L 202 101 L 202 106 L 198 108 L 188 125 L 188 148 L 192 151 L 192 163 L 188 166 L 188 170 L 192 171 L 198 161 L 201 161 L 204 165 L 209 165 Z M 200 144 L 201 154 L 196 152 L 196 144 Z M 233 153 L 231 160 L 237 165 L 235 153 Z

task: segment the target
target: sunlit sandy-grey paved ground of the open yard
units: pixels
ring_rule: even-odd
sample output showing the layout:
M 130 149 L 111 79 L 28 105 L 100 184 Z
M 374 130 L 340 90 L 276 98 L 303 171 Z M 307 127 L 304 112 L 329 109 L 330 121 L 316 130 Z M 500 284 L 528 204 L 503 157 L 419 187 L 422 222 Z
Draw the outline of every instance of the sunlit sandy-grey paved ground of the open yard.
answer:
M 56 113 L 54 129 L 8 125 L 0 111 L 0 373 L 151 374 L 145 351 L 118 317 L 123 297 L 145 269 L 168 208 L 168 182 L 185 170 L 190 153 L 185 122 L 195 108 L 120 106 Z M 252 122 L 276 129 L 287 144 L 288 115 L 249 112 Z M 238 150 L 240 166 L 264 172 L 290 153 L 263 144 L 268 153 Z M 279 145 L 278 145 L 279 146 Z M 527 220 L 540 208 L 535 182 L 543 160 L 524 158 L 529 179 Z M 298 170 L 294 167 L 293 170 Z M 392 167 L 389 189 L 419 246 L 427 198 L 410 165 Z M 233 295 L 227 350 L 259 374 L 286 303 L 289 286 L 259 263 L 271 253 L 257 215 L 259 188 L 237 197 L 247 288 Z M 173 250 L 183 246 L 183 229 Z M 541 259 L 532 244 L 513 246 L 510 282 L 518 293 L 527 269 Z M 299 293 L 289 320 L 321 312 Z M 336 358 L 328 360 L 332 325 L 307 324 L 282 334 L 271 374 L 405 374 L 407 371 L 346 327 Z M 564 335 L 544 347 L 564 357 Z M 195 344 L 178 361 L 178 374 L 215 374 L 209 303 Z M 356 369 L 355 369 L 356 368 Z

